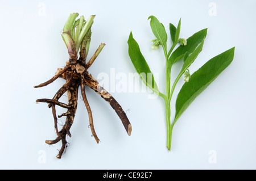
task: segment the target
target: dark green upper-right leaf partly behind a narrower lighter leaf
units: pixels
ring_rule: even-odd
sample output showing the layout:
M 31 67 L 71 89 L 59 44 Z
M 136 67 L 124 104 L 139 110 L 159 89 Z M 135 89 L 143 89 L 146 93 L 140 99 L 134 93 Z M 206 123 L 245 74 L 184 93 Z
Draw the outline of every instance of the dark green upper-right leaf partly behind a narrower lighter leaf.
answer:
M 189 37 L 187 39 L 187 45 L 185 46 L 179 46 L 175 51 L 171 54 L 169 60 L 168 60 L 168 67 L 170 67 L 172 64 L 180 60 L 185 52 L 188 52 L 189 54 L 193 52 L 193 50 L 196 49 L 196 47 L 205 39 L 207 36 L 207 28 L 196 32 L 194 35 Z

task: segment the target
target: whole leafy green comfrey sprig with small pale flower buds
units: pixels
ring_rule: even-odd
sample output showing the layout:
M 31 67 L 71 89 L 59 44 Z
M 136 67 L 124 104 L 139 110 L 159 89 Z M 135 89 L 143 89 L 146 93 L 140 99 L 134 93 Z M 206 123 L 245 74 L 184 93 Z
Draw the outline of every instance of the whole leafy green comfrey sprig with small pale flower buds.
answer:
M 172 129 L 180 115 L 188 108 L 193 100 L 201 92 L 203 92 L 214 79 L 233 61 L 234 47 L 226 50 L 225 52 L 213 57 L 206 62 L 201 68 L 192 75 L 189 73 L 189 66 L 195 61 L 201 50 L 203 49 L 204 40 L 207 36 L 207 29 L 196 32 L 187 40 L 181 39 L 180 36 L 180 24 L 175 27 L 170 23 L 170 33 L 172 46 L 167 49 L 167 33 L 162 23 L 159 22 L 155 16 L 150 16 L 150 26 L 156 39 L 152 40 L 152 49 L 158 49 L 161 45 L 163 48 L 164 56 L 166 59 L 166 94 L 159 91 L 158 86 L 154 80 L 154 76 L 147 77 L 151 70 L 144 59 L 137 41 L 133 38 L 133 34 L 130 33 L 128 45 L 129 45 L 129 56 L 131 62 L 137 72 L 141 76 L 142 81 L 146 86 L 150 87 L 155 94 L 158 94 L 164 99 L 166 108 L 166 126 L 167 126 L 167 148 L 171 150 L 172 140 Z M 179 45 L 178 47 L 176 45 Z M 176 48 L 177 47 L 177 48 Z M 175 49 L 176 48 L 176 49 Z M 171 86 L 171 69 L 177 61 L 183 60 L 183 66 L 181 67 L 180 73 L 177 75 L 174 83 Z M 184 85 L 181 87 L 179 94 L 176 99 L 175 117 L 171 123 L 171 109 L 170 103 L 172 94 L 174 93 L 177 82 L 184 75 Z

